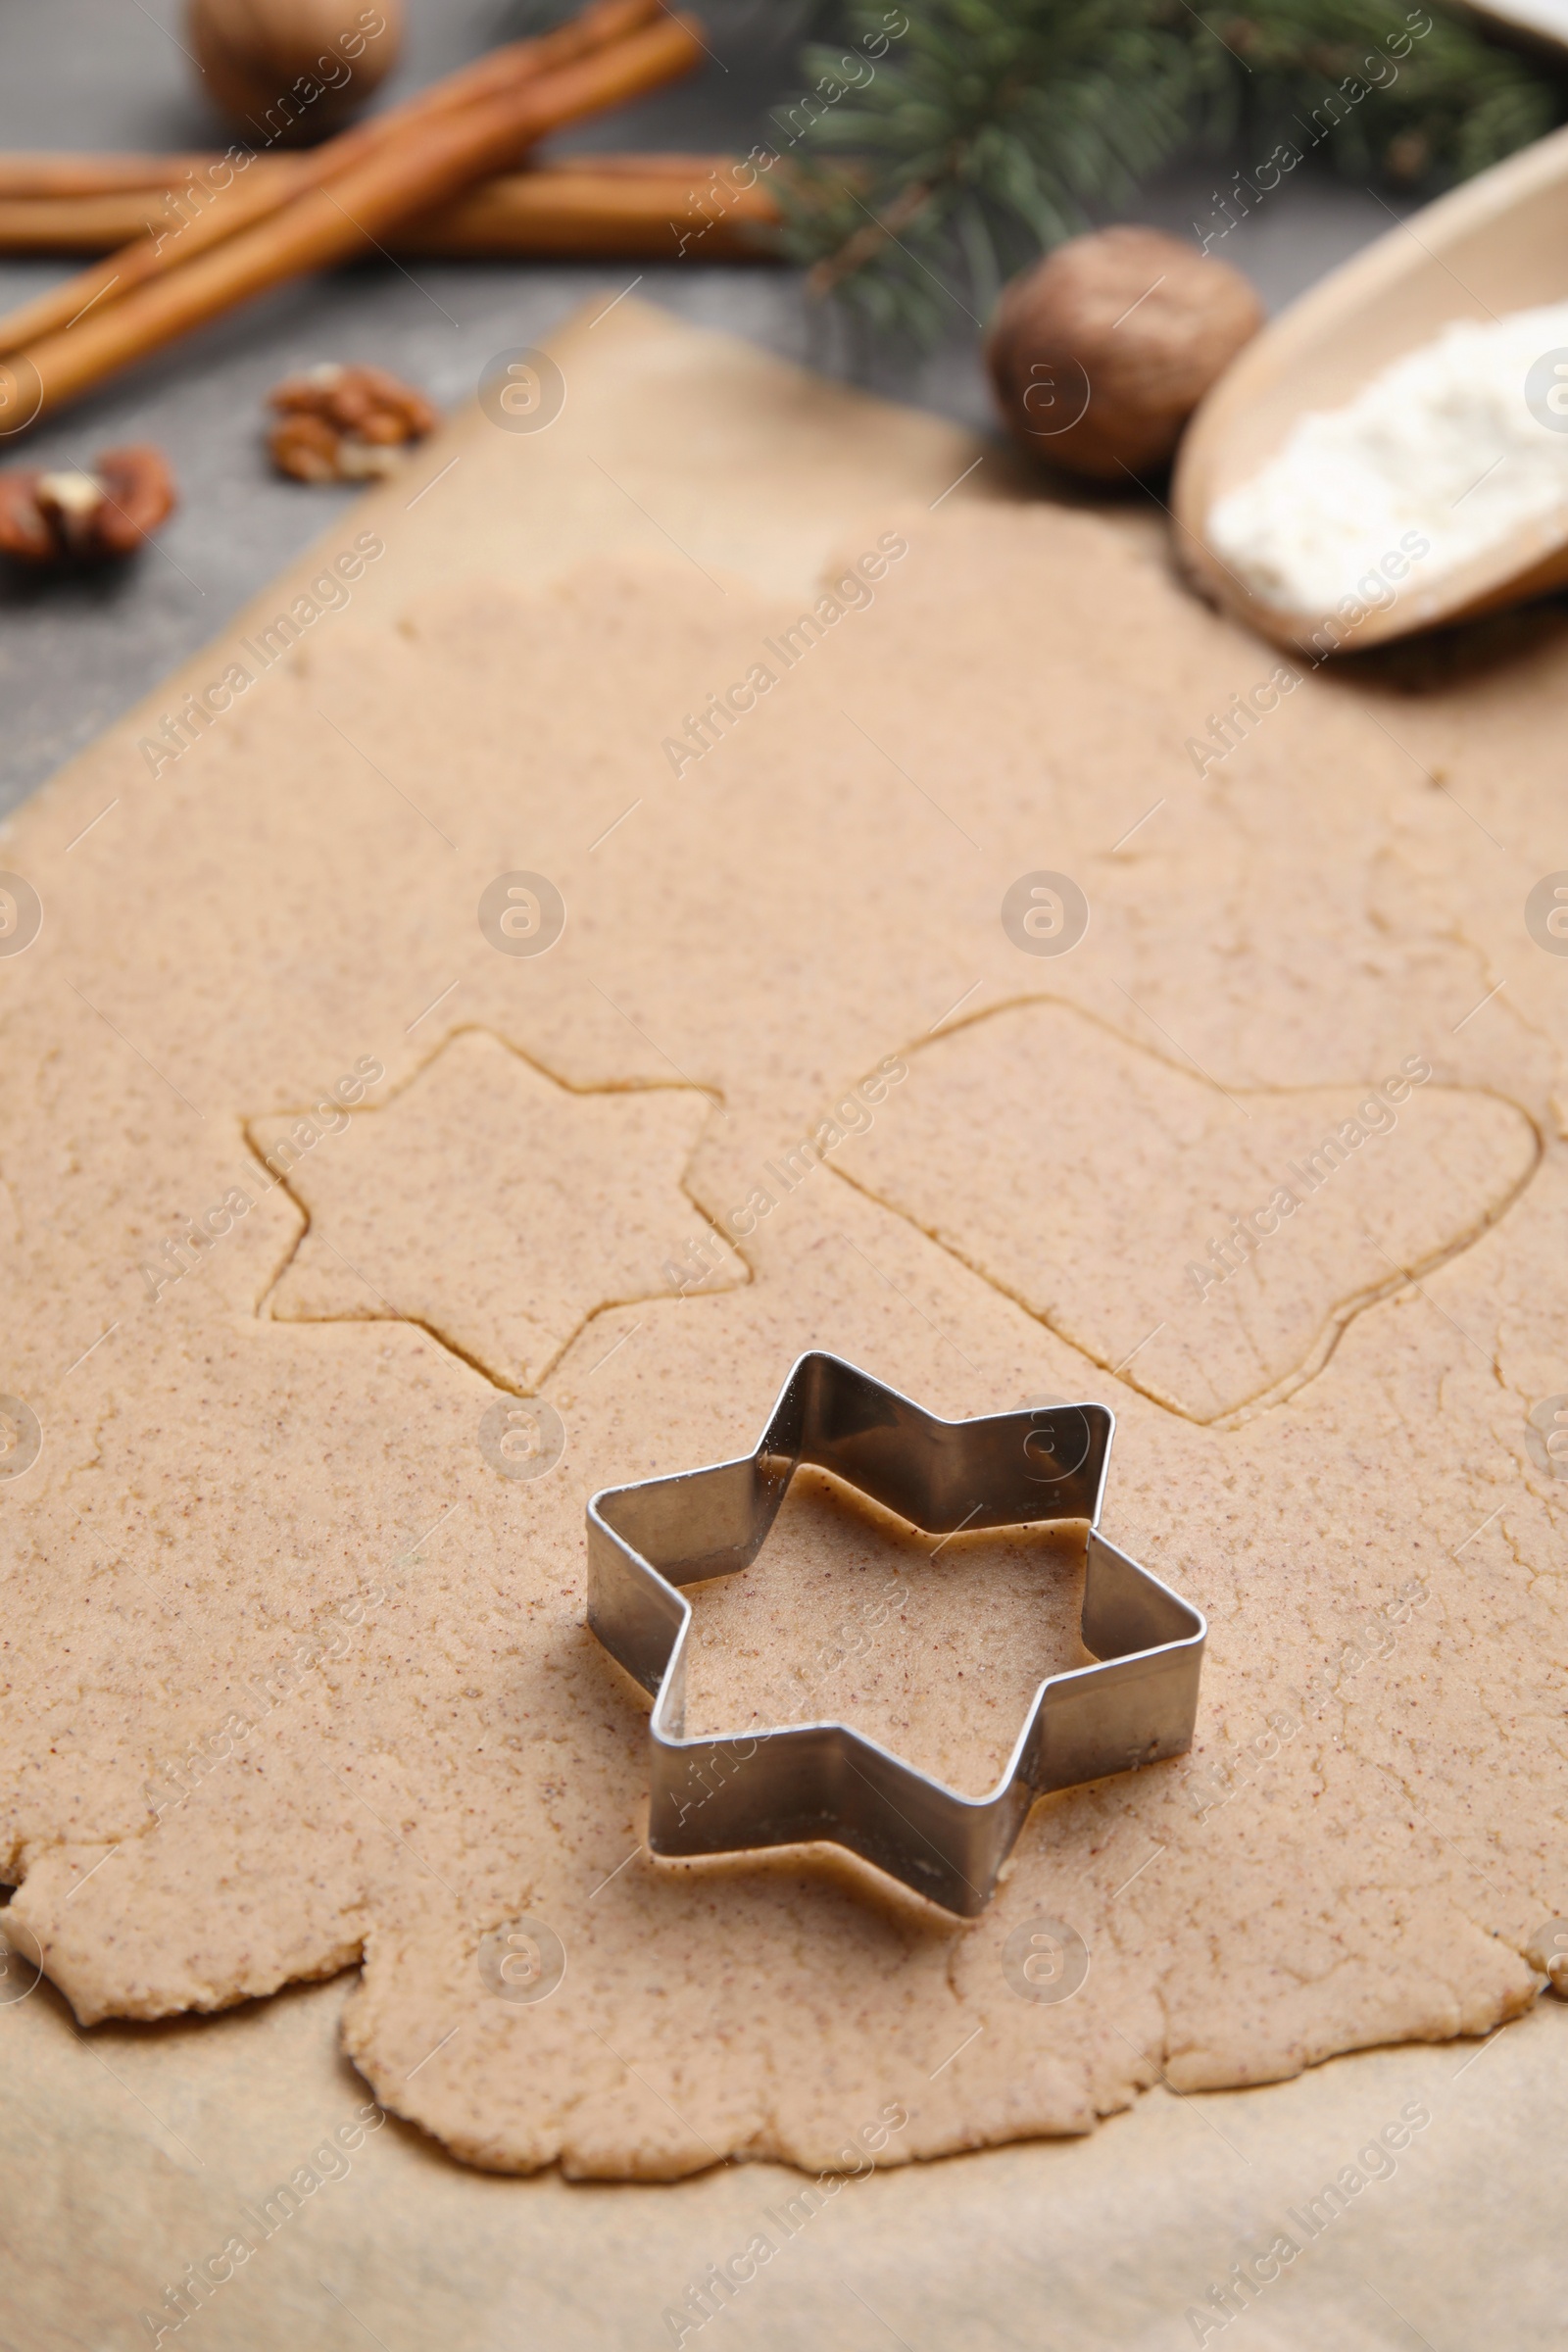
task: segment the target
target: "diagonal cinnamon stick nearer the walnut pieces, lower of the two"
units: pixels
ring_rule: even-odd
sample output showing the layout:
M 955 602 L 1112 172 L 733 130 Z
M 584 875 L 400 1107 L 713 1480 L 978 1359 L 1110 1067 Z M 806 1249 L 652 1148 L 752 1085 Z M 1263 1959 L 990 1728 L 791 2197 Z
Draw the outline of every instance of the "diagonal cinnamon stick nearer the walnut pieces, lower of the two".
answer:
M 7 358 L 0 423 L 45 416 L 103 376 L 172 343 L 235 303 L 303 270 L 329 268 L 386 228 L 456 198 L 522 146 L 689 73 L 703 59 L 691 19 L 661 16 L 642 33 L 520 87 L 411 125 L 362 153 L 329 186 L 303 188 L 266 221 L 179 268 L 103 301 L 59 334 Z

